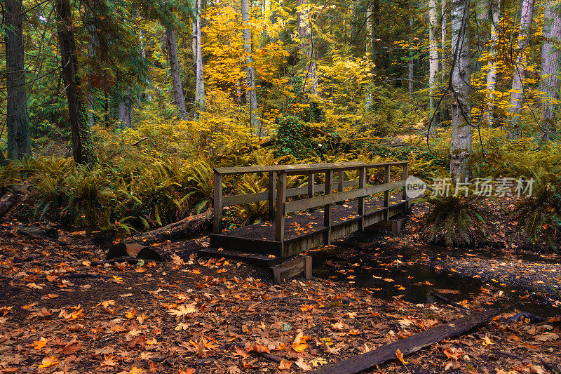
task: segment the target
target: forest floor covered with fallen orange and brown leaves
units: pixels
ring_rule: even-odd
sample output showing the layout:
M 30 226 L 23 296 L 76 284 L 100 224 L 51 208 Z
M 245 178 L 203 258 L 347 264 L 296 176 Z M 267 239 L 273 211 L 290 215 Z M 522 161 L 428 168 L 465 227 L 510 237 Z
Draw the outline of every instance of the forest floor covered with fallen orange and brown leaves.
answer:
M 417 213 L 401 236 L 385 234 L 362 244 L 359 237 L 311 254 L 369 253 L 381 260 L 386 248 L 405 252 L 419 246 Z M 197 245 L 204 246 L 205 239 L 162 243 L 156 248 L 170 261 L 131 265 L 102 261 L 106 249 L 86 232 L 60 231 L 58 239 L 50 239 L 0 231 L 0 373 L 297 373 L 468 313 L 437 302 L 408 301 L 409 286 L 384 276 L 374 276 L 384 287 L 363 286 L 354 263 L 337 264 L 337 275 L 330 275 L 336 279 L 274 285 L 261 269 L 244 263 L 196 258 Z M 482 274 L 471 275 L 498 281 L 485 283 L 462 302 L 472 310 L 506 298 L 493 284 L 503 278 L 484 269 L 501 276 L 506 276 L 503 269 L 527 270 L 534 278 L 525 284 L 536 286 L 554 278 L 544 274 L 559 276 L 555 258 L 543 272 L 534 265 L 521 270 L 525 262 L 508 257 L 487 256 L 487 262 L 478 257 L 481 261 L 462 267 L 465 256 L 423 253 L 417 259 L 440 267 L 439 272 L 478 269 Z M 399 269 L 407 262 L 413 260 L 398 257 L 382 265 Z M 402 272 L 407 275 L 407 268 Z M 390 286 L 403 288 L 403 295 L 377 293 Z M 370 372 L 561 373 L 560 318 L 509 321 L 516 312 L 503 312 L 464 335 L 421 349 L 406 356 L 406 363 L 395 359 Z

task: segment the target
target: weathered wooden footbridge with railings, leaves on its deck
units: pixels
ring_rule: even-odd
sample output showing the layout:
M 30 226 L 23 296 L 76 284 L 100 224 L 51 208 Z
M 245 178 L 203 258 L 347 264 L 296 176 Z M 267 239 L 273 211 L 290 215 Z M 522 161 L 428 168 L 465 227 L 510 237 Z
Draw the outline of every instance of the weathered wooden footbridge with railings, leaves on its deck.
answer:
M 210 235 L 210 246 L 288 258 L 387 221 L 407 211 L 407 164 L 346 162 L 215 168 L 214 233 Z M 369 178 L 369 172 L 374 170 L 379 175 L 381 169 L 383 182 L 372 184 L 375 178 Z M 223 196 L 225 175 L 250 173 L 268 178 L 265 192 Z M 325 183 L 316 185 L 321 174 L 325 174 Z M 307 185 L 288 188 L 290 176 L 304 176 Z M 349 180 L 346 176 L 358 178 Z M 391 194 L 392 191 L 397 193 Z M 378 198 L 374 196 L 377 194 Z M 257 201 L 269 202 L 269 221 L 222 230 L 224 207 Z

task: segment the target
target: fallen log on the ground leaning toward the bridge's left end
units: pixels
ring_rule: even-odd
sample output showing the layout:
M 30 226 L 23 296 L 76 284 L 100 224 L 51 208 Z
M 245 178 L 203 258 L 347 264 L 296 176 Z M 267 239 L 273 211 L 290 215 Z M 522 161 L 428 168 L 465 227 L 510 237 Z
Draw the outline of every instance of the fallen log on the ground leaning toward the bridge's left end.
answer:
M 212 225 L 212 217 L 212 208 L 208 208 L 201 214 L 189 215 L 188 217 L 170 225 L 137 234 L 133 236 L 133 239 L 141 241 L 142 243 L 189 239 L 194 236 L 199 236 L 203 232 L 207 231 Z

